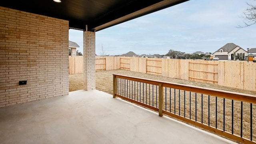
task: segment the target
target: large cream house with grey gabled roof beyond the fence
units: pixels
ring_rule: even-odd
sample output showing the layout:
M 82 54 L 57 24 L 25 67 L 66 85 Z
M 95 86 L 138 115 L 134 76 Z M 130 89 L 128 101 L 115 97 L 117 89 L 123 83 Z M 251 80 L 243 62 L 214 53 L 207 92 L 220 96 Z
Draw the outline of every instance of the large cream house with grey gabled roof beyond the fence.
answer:
M 220 60 L 235 60 L 234 54 L 238 55 L 240 53 L 243 54 L 243 58 L 248 54 L 246 50 L 242 49 L 240 46 L 237 46 L 234 43 L 228 43 L 219 48 L 212 55 L 218 57 Z

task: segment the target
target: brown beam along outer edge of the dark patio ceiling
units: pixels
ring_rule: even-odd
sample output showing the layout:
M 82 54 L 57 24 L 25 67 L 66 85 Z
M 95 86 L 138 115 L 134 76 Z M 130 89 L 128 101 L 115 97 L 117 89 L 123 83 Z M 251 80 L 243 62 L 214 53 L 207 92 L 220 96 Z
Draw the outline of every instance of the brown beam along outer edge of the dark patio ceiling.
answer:
M 167 2 L 166 2 L 167 1 Z M 94 27 L 94 25 L 89 25 L 88 26 L 88 29 L 90 31 L 99 31 L 99 30 L 103 30 L 105 28 L 109 28 L 111 26 L 114 26 L 114 25 L 117 25 L 117 24 L 121 24 L 123 22 L 126 22 L 126 21 L 129 21 L 129 20 L 132 20 L 134 18 L 138 18 L 140 16 L 144 16 L 144 15 L 147 15 L 147 14 L 150 14 L 150 13 L 153 13 L 153 12 L 156 12 L 158 10 L 162 10 L 162 9 L 165 9 L 165 8 L 168 8 L 170 6 L 174 6 L 174 5 L 177 5 L 177 4 L 180 4 L 180 3 L 183 3 L 183 2 L 186 2 L 188 0 L 176 0 L 175 2 L 173 2 L 174 0 L 164 0 L 162 2 L 158 2 L 152 6 L 148 6 L 147 8 L 143 8 L 141 10 L 138 10 L 137 12 L 134 12 L 134 13 L 131 13 L 131 14 L 128 14 L 126 16 L 123 16 L 121 18 L 117 18 L 115 20 L 112 20 L 111 22 L 107 22 L 105 24 L 102 24 L 100 26 L 96 26 Z

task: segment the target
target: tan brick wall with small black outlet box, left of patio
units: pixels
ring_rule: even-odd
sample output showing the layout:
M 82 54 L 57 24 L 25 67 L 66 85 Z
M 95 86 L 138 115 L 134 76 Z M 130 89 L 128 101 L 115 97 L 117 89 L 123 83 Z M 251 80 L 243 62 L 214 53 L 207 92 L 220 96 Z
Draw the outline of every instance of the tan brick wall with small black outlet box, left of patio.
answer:
M 68 21 L 0 7 L 0 107 L 64 96 L 68 87 Z

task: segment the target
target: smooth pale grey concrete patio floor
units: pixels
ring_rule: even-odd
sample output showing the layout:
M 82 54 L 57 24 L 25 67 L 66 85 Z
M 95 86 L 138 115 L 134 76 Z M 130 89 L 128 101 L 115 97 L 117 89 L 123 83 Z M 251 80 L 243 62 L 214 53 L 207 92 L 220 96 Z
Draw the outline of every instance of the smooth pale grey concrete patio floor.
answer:
M 1 144 L 232 144 L 98 90 L 0 108 Z

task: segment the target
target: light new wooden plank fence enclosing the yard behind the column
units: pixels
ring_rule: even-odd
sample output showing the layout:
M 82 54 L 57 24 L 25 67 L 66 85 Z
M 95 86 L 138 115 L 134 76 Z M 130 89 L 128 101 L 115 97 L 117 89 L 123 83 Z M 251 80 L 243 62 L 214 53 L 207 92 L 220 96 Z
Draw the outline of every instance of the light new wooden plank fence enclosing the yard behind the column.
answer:
M 82 59 L 77 61 L 70 61 L 70 74 L 83 72 Z M 254 62 L 96 56 L 96 71 L 118 69 L 256 91 Z

